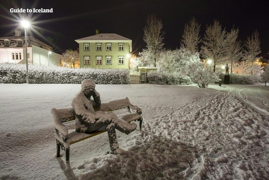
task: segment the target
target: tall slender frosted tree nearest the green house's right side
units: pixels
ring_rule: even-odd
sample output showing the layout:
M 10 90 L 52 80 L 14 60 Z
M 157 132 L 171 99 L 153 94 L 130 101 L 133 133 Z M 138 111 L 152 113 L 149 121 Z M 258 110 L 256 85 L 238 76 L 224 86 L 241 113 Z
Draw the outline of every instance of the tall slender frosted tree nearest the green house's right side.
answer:
M 153 64 L 156 67 L 159 53 L 164 49 L 164 34 L 161 20 L 157 19 L 155 14 L 148 15 L 143 36 L 143 40 L 146 42 L 146 49 L 143 49 L 143 52 L 147 53 L 149 58 L 147 61 L 150 61 L 146 64 Z

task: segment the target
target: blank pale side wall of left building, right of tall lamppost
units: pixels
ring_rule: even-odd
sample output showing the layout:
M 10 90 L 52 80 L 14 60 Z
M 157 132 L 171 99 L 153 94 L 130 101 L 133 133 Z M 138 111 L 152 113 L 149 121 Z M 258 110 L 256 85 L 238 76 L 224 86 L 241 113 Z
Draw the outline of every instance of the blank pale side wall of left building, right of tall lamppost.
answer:
M 28 50 L 28 48 L 27 48 Z M 57 53 L 48 54 L 48 50 L 32 45 L 33 65 L 57 65 L 61 66 L 62 55 Z M 48 63 L 49 61 L 49 63 Z

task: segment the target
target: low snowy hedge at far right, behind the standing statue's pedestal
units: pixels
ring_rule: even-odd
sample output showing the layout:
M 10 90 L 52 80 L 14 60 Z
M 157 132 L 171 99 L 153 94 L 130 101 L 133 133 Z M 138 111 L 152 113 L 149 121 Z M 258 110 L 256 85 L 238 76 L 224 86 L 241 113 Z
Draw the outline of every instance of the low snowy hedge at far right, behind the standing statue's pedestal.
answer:
M 224 82 L 224 75 L 220 75 L 220 79 Z M 242 74 L 231 74 L 230 75 L 230 83 L 236 84 L 256 84 L 260 82 L 260 78 L 253 75 L 242 75 Z

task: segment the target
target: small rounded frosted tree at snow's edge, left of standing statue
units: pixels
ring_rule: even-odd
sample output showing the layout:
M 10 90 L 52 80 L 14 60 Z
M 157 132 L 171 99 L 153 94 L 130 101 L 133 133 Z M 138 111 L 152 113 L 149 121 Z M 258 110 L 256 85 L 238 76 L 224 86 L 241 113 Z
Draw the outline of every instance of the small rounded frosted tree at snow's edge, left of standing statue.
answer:
M 197 83 L 199 87 L 207 87 L 208 84 L 215 83 L 219 80 L 219 72 L 212 72 L 206 64 L 191 63 L 184 67 L 185 75 L 188 76 L 193 83 Z

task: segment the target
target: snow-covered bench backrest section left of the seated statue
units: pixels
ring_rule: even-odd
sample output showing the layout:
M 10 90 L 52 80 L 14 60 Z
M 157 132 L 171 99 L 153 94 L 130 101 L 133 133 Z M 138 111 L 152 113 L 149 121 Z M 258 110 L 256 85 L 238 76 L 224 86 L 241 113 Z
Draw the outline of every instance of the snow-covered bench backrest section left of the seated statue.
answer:
M 73 111 L 73 108 L 62 108 L 62 109 L 52 108 L 51 114 L 56 122 L 61 121 L 62 123 L 65 123 L 76 119 L 76 115 L 75 112 Z

